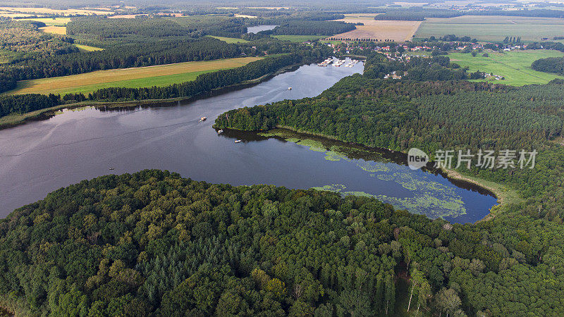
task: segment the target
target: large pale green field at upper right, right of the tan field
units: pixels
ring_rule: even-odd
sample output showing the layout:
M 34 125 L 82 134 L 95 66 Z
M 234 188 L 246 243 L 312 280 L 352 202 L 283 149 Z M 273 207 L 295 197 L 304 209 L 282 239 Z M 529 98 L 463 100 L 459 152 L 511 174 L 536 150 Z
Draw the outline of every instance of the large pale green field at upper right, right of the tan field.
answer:
M 417 32 L 416 38 L 441 37 L 454 34 L 469 36 L 481 41 L 502 41 L 505 37 L 521 37 L 522 41 L 539 41 L 562 36 L 564 19 L 523 18 L 515 16 L 462 15 L 456 18 L 427 18 Z

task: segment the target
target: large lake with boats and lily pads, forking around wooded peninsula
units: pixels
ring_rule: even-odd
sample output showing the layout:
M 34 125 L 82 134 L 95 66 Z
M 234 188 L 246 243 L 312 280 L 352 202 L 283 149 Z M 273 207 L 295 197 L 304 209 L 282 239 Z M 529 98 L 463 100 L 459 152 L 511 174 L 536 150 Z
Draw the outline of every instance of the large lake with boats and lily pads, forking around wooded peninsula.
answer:
M 402 154 L 291 132 L 268 137 L 237 131 L 218 135 L 212 128 L 225 111 L 314 97 L 342 77 L 362 73 L 363 67 L 312 64 L 252 87 L 178 106 L 75 109 L 0 130 L 0 217 L 80 180 L 145 168 L 207 182 L 371 195 L 398 208 L 460 223 L 486 216 L 496 204 L 494 197 L 435 173 L 410 170 Z M 199 122 L 203 116 L 207 120 Z

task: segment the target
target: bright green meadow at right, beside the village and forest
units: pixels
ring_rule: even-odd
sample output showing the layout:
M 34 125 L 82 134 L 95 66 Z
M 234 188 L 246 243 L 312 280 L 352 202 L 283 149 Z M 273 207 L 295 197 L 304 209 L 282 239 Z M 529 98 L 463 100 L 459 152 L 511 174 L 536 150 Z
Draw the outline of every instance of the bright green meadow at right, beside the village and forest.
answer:
M 471 72 L 479 70 L 494 75 L 503 75 L 505 80 L 489 80 L 490 82 L 505 85 L 522 86 L 528 84 L 546 84 L 555 78 L 562 78 L 551 73 L 537 72 L 531 68 L 531 63 L 539 58 L 564 56 L 559 51 L 548 50 L 526 50 L 526 51 L 507 51 L 504 53 L 487 51 L 488 57 L 478 54 L 450 53 L 450 61 L 458 63 L 462 67 L 468 66 Z

